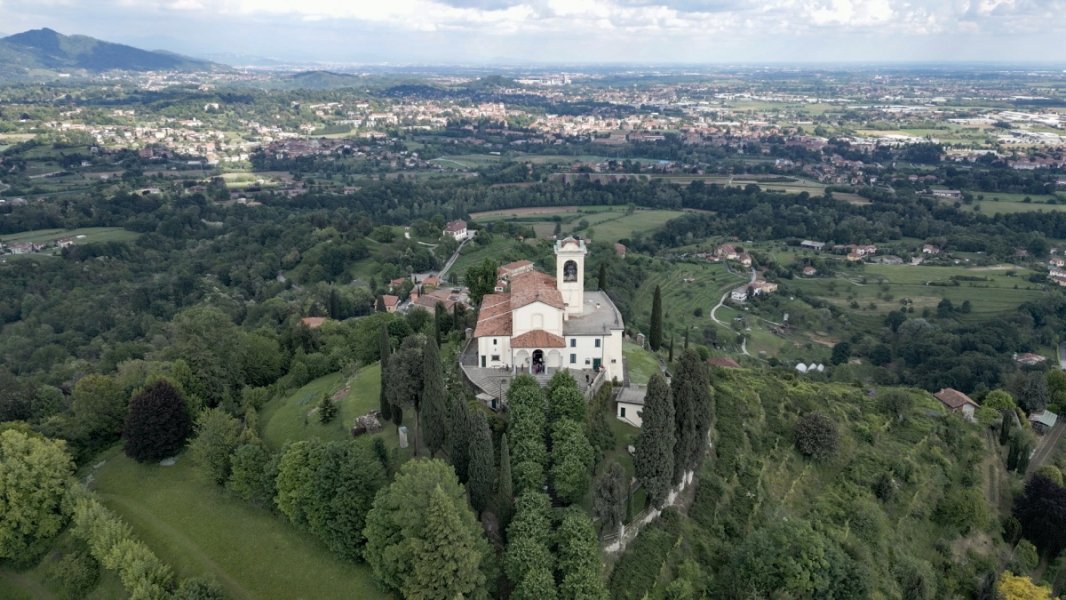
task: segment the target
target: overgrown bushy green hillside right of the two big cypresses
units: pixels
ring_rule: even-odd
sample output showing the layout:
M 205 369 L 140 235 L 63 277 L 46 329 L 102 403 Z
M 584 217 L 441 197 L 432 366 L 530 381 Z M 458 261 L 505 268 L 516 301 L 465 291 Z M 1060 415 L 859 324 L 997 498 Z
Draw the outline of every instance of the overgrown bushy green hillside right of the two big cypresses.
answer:
M 745 370 L 720 371 L 712 385 L 714 448 L 694 500 L 629 547 L 615 597 L 661 598 L 689 584 L 715 598 L 969 597 L 1003 563 L 978 468 L 994 449 L 928 394 Z M 882 399 L 901 392 L 909 400 L 892 405 L 903 406 L 899 420 Z M 821 461 L 793 441 L 813 411 L 839 432 Z

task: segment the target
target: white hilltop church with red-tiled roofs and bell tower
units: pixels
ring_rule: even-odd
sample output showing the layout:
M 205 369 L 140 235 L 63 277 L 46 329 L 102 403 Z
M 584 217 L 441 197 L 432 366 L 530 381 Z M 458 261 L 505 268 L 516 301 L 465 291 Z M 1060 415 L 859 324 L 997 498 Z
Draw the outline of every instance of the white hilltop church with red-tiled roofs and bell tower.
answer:
M 526 271 L 507 291 L 482 299 L 474 338 L 478 366 L 516 373 L 602 371 L 624 378 L 621 313 L 602 291 L 584 289 L 583 240 L 555 242 L 555 277 Z

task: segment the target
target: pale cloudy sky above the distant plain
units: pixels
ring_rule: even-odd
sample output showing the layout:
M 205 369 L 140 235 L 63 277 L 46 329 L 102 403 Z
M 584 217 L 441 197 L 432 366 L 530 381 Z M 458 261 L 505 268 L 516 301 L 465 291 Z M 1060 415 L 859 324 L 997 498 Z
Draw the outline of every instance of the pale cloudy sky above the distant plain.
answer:
M 1066 64 L 1066 0 L 0 0 L 194 56 L 350 64 Z

